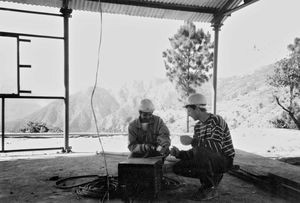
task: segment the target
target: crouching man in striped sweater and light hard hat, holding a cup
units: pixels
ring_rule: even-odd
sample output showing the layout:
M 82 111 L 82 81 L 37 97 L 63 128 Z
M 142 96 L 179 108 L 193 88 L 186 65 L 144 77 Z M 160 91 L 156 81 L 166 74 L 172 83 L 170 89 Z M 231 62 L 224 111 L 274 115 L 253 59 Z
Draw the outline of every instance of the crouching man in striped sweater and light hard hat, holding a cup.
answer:
M 209 200 L 217 196 L 216 187 L 223 173 L 232 167 L 235 151 L 227 123 L 221 116 L 207 112 L 206 98 L 195 93 L 188 97 L 185 108 L 188 115 L 198 121 L 193 138 L 181 136 L 184 145 L 191 145 L 188 151 L 177 147 L 170 154 L 180 159 L 173 171 L 182 176 L 199 178 L 201 187 L 193 195 L 197 200 Z

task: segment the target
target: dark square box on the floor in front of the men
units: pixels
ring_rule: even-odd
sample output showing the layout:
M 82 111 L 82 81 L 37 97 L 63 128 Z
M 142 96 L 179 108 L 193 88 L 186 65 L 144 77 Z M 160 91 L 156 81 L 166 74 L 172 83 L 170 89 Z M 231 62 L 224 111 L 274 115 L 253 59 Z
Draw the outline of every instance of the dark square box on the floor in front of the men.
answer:
M 123 198 L 156 198 L 161 190 L 162 159 L 131 158 L 118 164 Z

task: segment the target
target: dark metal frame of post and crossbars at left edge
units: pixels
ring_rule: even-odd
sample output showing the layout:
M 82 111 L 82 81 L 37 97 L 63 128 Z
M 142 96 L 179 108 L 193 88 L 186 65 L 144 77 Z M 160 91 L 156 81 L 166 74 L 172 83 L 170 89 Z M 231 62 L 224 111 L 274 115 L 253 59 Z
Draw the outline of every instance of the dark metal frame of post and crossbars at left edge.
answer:
M 2 100 L 2 136 L 1 136 L 1 151 L 0 152 L 17 152 L 17 151 L 36 151 L 36 150 L 58 150 L 61 149 L 63 152 L 70 152 L 71 148 L 69 146 L 69 17 L 72 12 L 71 9 L 61 8 L 60 12 L 62 14 L 54 13 L 43 13 L 35 11 L 26 11 L 19 9 L 9 9 L 0 8 L 0 10 L 12 11 L 12 12 L 22 12 L 37 15 L 48 15 L 63 17 L 64 19 L 64 36 L 49 36 L 49 35 L 34 35 L 26 33 L 11 33 L 11 32 L 0 32 L 0 36 L 15 37 L 17 38 L 17 93 L 12 94 L 0 94 Z M 34 38 L 48 38 L 48 39 L 58 39 L 64 40 L 64 87 L 65 96 L 23 96 L 22 93 L 31 93 L 30 90 L 21 90 L 20 88 L 20 68 L 31 68 L 31 65 L 20 64 L 20 42 L 30 42 L 28 39 L 22 39 L 22 37 L 34 37 Z M 54 147 L 54 148 L 29 148 L 29 149 L 16 149 L 16 150 L 5 150 L 5 99 L 62 99 L 65 103 L 65 129 L 64 129 L 64 147 Z

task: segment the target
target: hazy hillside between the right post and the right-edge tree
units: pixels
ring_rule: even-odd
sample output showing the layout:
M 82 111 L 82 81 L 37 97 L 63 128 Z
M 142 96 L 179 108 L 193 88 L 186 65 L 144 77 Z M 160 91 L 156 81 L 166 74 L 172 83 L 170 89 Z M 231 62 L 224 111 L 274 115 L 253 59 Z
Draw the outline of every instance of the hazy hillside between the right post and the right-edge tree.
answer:
M 231 128 L 271 127 L 269 121 L 282 110 L 266 84 L 273 66 L 265 66 L 253 74 L 231 77 L 219 82 L 217 112 L 223 115 Z

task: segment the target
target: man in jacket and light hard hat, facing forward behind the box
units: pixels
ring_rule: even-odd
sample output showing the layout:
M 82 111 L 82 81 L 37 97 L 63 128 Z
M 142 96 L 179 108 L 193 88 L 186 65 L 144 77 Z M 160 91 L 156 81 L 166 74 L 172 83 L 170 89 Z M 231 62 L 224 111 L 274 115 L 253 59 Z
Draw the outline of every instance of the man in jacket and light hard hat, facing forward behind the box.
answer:
M 128 127 L 129 158 L 166 157 L 169 154 L 169 129 L 160 117 L 153 115 L 154 110 L 150 99 L 141 100 L 139 118 Z

